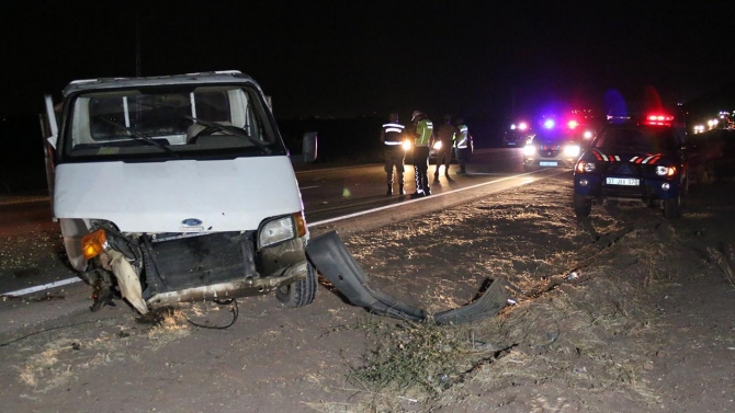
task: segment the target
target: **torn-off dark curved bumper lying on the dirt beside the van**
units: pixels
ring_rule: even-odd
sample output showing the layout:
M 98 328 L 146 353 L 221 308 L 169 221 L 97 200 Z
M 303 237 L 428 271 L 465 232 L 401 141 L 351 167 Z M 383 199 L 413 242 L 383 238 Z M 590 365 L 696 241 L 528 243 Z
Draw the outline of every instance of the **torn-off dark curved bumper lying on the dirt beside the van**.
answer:
M 353 306 L 364 307 L 381 316 L 410 321 L 433 320 L 438 324 L 464 323 L 494 316 L 508 305 L 509 297 L 505 286 L 493 283 L 477 300 L 430 317 L 426 310 L 371 286 L 370 278 L 347 250 L 337 231 L 312 239 L 306 246 L 306 254 L 319 273 Z

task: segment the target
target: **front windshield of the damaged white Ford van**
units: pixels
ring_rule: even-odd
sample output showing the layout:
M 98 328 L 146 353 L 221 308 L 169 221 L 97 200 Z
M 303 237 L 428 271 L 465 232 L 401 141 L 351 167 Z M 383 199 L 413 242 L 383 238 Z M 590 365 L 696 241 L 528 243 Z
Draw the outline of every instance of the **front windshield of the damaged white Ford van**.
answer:
M 259 94 L 241 84 L 94 91 L 69 107 L 61 161 L 286 153 Z

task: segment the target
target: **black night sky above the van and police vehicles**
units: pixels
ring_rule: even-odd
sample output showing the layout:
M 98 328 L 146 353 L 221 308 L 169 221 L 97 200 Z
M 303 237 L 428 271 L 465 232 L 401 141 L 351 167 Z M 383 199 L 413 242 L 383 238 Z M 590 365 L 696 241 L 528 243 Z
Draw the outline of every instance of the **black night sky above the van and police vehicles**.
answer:
M 161 3 L 3 1 L 0 116 L 75 79 L 135 76 L 136 26 L 144 76 L 241 70 L 281 118 L 512 116 L 735 82 L 733 1 Z

